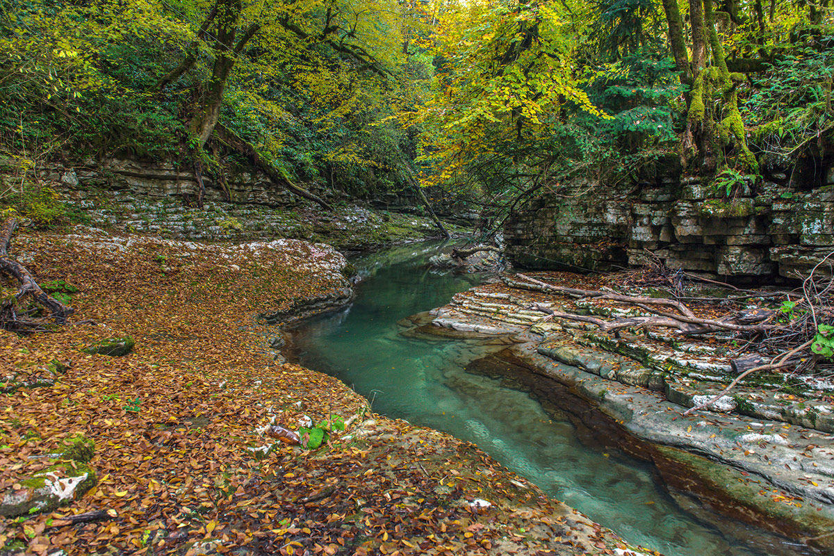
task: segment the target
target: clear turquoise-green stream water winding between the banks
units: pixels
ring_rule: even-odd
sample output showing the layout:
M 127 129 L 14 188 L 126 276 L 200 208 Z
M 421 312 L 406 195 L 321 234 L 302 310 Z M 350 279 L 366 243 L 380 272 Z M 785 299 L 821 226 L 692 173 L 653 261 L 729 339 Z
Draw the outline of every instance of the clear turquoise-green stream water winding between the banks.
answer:
M 373 400 L 378 413 L 478 444 L 631 543 L 666 556 L 797 553 L 798 547 L 741 524 L 728 523 L 742 537 L 756 538 L 758 548 L 702 523 L 649 466 L 586 447 L 569 422 L 553 419 L 527 393 L 466 373 L 466 363 L 485 353 L 478 343 L 401 335 L 400 318 L 444 305 L 473 285 L 473 278 L 425 270 L 436 248 L 420 244 L 355 260 L 367 276 L 356 301 L 299 328 L 300 362 L 340 378 Z

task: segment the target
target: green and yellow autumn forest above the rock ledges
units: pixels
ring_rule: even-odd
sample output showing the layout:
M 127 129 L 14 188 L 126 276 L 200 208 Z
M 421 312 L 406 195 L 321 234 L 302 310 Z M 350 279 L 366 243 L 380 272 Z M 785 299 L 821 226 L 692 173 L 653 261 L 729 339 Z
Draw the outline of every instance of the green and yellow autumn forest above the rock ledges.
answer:
M 672 156 L 729 195 L 826 155 L 832 25 L 828 0 L 15 0 L 0 148 L 23 173 L 245 161 L 299 194 L 419 183 L 487 213 Z

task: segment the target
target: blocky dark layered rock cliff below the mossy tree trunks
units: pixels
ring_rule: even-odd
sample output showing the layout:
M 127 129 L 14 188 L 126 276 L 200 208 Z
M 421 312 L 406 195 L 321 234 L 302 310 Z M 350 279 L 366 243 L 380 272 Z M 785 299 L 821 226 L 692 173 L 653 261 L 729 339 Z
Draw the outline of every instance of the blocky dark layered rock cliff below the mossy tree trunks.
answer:
M 506 223 L 508 257 L 610 270 L 640 265 L 648 250 L 670 268 L 745 281 L 796 278 L 834 251 L 834 165 L 812 185 L 774 171 L 730 197 L 670 166 L 636 186 L 577 181 L 530 201 Z

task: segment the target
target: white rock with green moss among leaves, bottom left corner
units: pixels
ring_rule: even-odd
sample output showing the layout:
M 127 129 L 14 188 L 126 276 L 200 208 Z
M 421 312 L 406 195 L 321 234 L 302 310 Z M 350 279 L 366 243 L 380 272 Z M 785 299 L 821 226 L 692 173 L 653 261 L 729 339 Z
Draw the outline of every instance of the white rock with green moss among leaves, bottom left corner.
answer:
M 80 498 L 97 482 L 86 463 L 62 461 L 23 479 L 0 495 L 0 515 L 13 518 L 51 512 Z M 15 488 L 19 487 L 19 488 Z

